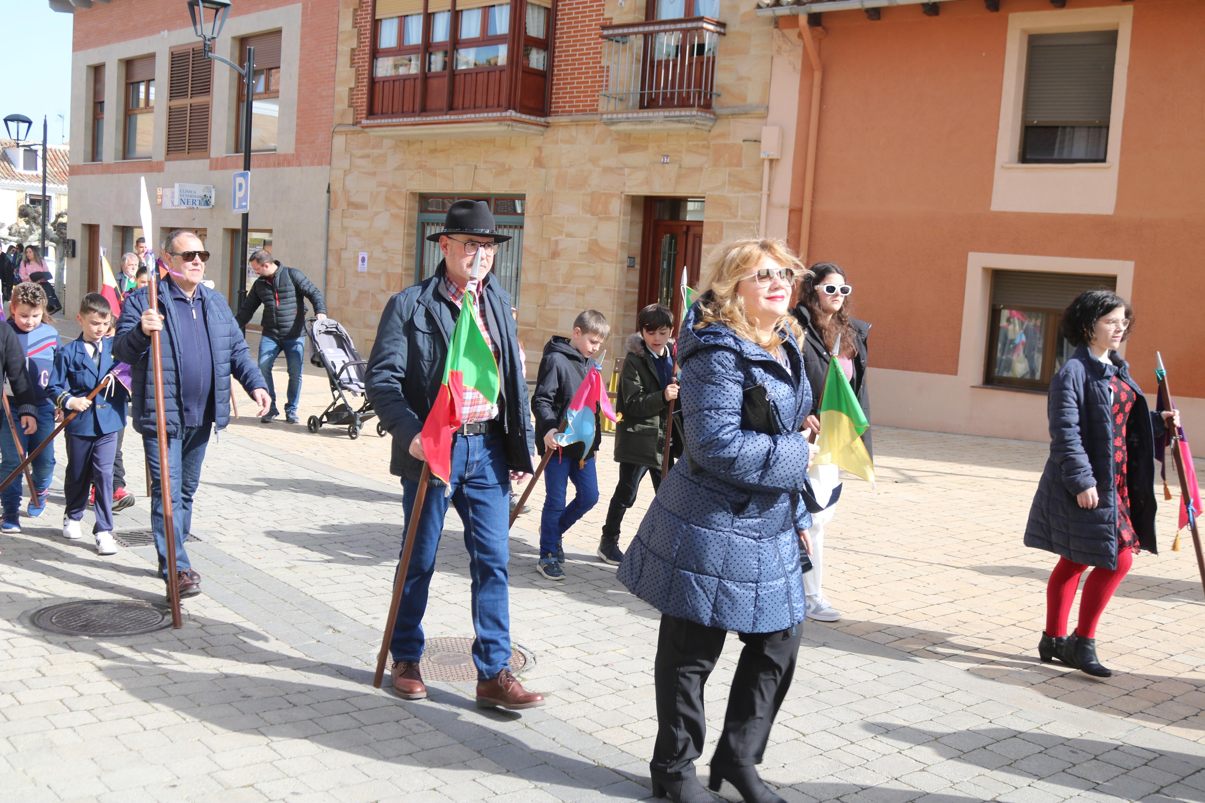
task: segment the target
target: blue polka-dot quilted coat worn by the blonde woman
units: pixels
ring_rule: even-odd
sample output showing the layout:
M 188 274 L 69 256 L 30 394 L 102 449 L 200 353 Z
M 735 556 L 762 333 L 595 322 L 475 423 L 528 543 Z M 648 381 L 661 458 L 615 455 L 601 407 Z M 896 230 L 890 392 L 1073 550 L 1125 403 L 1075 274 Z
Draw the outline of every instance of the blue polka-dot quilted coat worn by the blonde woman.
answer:
M 803 574 L 793 514 L 807 486 L 812 408 L 803 355 L 783 344 L 788 372 L 760 346 L 711 324 L 694 329 L 695 303 L 678 339 L 678 396 L 687 459 L 662 483 L 619 565 L 619 581 L 664 614 L 709 627 L 770 633 L 803 621 Z M 762 396 L 764 394 L 764 396 Z M 770 402 L 776 429 L 742 426 L 750 397 Z

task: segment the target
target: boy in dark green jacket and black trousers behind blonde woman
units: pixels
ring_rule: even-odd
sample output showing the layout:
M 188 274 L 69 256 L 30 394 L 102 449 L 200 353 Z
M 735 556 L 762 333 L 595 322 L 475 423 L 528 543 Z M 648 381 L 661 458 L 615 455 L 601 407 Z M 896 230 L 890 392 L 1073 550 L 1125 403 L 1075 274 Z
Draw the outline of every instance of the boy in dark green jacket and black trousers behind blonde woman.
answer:
M 654 492 L 662 485 L 665 423 L 669 420 L 670 400 L 677 398 L 678 392 L 674 380 L 674 356 L 668 347 L 674 335 L 674 313 L 664 305 L 651 303 L 640 311 L 636 327 L 639 331 L 629 335 L 624 343 L 628 354 L 623 359 L 619 392 L 615 397 L 615 411 L 621 414 L 615 425 L 615 460 L 619 464 L 619 482 L 611 495 L 598 549 L 599 559 L 612 566 L 623 560 L 619 527 L 624 513 L 636 502 L 640 480 L 648 473 L 653 478 Z M 681 419 L 674 423 L 680 425 Z M 675 426 L 674 431 L 680 432 L 680 426 Z M 675 443 L 680 454 L 682 442 L 675 438 Z

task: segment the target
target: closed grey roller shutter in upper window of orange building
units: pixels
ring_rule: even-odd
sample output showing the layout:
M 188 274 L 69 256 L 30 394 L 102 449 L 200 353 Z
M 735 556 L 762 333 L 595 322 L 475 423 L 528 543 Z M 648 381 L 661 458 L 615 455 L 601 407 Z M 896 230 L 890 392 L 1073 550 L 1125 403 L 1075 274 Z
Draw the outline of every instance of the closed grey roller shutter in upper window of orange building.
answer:
M 1031 34 L 1027 125 L 1107 125 L 1117 31 Z

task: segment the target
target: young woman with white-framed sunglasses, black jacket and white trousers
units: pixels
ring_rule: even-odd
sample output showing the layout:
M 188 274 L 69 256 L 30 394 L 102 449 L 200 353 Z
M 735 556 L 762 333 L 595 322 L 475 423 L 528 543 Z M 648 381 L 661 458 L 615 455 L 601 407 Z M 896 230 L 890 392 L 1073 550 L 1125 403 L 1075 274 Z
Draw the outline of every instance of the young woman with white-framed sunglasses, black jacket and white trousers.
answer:
M 866 333 L 870 324 L 850 315 L 850 295 L 853 287 L 845 271 L 831 262 L 812 265 L 812 274 L 804 281 L 799 303 L 794 308 L 795 319 L 804 327 L 804 370 L 812 386 L 812 412 L 806 426 L 819 432 L 819 407 L 824 395 L 829 360 L 837 335 L 841 336 L 837 364 L 853 386 L 862 411 L 870 420 L 870 391 L 866 386 Z M 870 429 L 862 435 L 866 451 L 870 451 Z M 828 504 L 833 491 L 841 484 L 836 466 L 812 466 L 809 470 L 812 490 L 821 504 Z M 841 614 L 833 608 L 821 585 L 824 572 L 824 527 L 831 521 L 836 506 L 812 514 L 812 526 L 800 531 L 807 548 L 812 569 L 804 573 L 804 592 L 807 595 L 807 618 L 817 621 L 839 621 Z

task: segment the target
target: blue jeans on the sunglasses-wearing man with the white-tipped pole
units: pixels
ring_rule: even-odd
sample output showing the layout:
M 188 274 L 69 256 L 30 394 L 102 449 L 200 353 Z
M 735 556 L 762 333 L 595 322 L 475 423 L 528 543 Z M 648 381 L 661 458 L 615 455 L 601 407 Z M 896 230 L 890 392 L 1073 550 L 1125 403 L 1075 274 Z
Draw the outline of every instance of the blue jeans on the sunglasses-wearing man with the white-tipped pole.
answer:
M 176 537 L 176 571 L 192 568 L 184 538 L 193 531 L 193 495 L 201 480 L 205 448 L 210 444 L 212 424 L 184 430 L 183 438 L 167 439 L 167 477 L 171 480 L 171 525 Z M 159 553 L 159 573 L 167 579 L 167 538 L 163 525 L 163 490 L 159 486 L 159 441 L 142 436 L 142 451 L 151 467 L 151 529 L 154 548 Z

